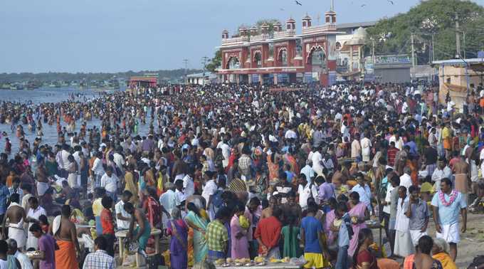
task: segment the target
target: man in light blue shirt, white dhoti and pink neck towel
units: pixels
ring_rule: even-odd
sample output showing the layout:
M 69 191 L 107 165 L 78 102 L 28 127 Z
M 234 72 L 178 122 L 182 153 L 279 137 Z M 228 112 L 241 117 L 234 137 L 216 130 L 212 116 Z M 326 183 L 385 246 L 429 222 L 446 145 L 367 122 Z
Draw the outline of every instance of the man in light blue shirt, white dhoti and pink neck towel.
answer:
M 457 244 L 461 241 L 459 234 L 459 213 L 462 214 L 461 232 L 467 229 L 467 201 L 461 192 L 452 189 L 451 179 L 441 180 L 441 190 L 433 195 L 433 221 L 436 223 L 436 236 L 447 241 L 451 258 L 457 257 Z

